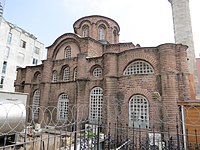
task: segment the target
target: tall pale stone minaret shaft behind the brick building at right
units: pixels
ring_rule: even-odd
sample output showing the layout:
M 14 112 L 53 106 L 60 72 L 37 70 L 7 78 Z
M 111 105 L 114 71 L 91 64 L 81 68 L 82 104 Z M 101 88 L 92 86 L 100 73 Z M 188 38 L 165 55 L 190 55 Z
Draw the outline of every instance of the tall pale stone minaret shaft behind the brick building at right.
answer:
M 169 0 L 172 6 L 175 42 L 188 46 L 188 67 L 190 83 L 195 87 L 196 98 L 200 98 L 200 88 L 197 78 L 197 67 L 190 18 L 189 0 Z M 192 88 L 191 88 L 192 89 Z M 194 93 L 193 92 L 193 93 Z

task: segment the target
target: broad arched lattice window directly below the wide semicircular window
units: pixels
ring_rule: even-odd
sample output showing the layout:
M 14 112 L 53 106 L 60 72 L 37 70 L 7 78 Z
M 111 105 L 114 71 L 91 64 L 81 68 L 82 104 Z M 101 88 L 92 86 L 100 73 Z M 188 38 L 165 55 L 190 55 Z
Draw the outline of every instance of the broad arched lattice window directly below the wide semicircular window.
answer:
M 129 100 L 129 126 L 146 128 L 149 126 L 149 105 L 142 95 L 134 95 Z

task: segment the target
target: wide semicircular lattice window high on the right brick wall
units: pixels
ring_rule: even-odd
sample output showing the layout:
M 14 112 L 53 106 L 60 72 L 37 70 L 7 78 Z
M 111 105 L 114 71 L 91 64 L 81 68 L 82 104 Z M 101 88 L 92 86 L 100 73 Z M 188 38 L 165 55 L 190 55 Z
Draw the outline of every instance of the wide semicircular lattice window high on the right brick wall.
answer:
M 132 74 L 152 74 L 154 73 L 153 67 L 142 60 L 137 60 L 128 65 L 124 71 L 124 75 Z

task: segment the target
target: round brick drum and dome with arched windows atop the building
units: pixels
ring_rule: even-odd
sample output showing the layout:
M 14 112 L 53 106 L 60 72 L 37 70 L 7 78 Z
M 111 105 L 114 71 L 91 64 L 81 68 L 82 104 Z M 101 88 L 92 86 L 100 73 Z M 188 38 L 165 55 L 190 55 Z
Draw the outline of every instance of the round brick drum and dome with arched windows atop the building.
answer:
M 73 27 L 76 34 L 91 37 L 103 44 L 119 42 L 120 27 L 116 21 L 108 17 L 99 15 L 82 17 L 73 24 Z

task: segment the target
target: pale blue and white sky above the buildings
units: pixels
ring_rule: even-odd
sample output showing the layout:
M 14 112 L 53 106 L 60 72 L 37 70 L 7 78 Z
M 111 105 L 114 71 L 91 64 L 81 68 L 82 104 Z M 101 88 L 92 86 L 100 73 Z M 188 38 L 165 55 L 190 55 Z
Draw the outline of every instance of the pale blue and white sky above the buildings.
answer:
M 196 57 L 200 57 L 200 1 L 190 1 Z M 142 47 L 174 43 L 168 0 L 6 0 L 3 17 L 50 46 L 84 16 L 102 15 L 120 26 L 120 42 Z

